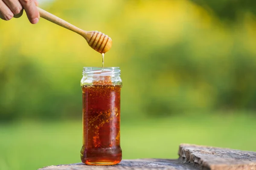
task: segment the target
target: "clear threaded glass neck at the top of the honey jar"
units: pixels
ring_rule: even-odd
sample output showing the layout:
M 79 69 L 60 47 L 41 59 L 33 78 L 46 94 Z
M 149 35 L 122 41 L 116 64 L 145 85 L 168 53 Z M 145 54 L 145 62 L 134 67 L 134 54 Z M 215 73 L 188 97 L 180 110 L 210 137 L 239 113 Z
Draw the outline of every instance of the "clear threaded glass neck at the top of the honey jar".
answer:
M 83 76 L 84 77 L 94 77 L 94 76 L 117 76 L 121 74 L 119 67 L 84 67 Z

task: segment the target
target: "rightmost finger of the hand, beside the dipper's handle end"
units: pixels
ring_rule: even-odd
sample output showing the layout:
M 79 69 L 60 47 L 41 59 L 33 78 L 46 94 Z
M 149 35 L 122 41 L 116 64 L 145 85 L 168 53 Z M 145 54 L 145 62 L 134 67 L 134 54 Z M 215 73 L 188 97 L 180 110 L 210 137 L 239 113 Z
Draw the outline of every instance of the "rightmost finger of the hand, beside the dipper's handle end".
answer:
M 21 5 L 26 11 L 27 17 L 32 24 L 36 24 L 39 21 L 39 12 L 35 6 L 34 0 L 20 0 Z

